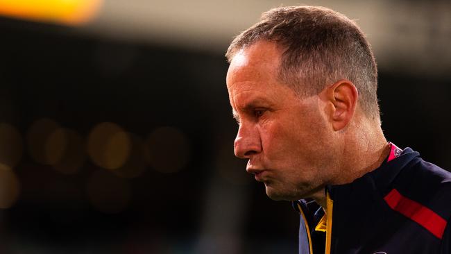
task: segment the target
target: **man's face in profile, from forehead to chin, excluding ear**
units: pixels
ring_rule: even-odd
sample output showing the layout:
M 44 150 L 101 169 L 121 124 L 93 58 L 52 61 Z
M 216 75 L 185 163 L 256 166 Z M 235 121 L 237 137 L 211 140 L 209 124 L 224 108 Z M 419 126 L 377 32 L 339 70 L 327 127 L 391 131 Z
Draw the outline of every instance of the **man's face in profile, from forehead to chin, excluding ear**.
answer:
M 333 132 L 319 96 L 300 99 L 278 81 L 280 49 L 257 42 L 230 63 L 227 87 L 239 122 L 235 155 L 263 182 L 275 200 L 296 200 L 323 192 L 331 176 Z M 301 84 L 302 85 L 302 84 Z

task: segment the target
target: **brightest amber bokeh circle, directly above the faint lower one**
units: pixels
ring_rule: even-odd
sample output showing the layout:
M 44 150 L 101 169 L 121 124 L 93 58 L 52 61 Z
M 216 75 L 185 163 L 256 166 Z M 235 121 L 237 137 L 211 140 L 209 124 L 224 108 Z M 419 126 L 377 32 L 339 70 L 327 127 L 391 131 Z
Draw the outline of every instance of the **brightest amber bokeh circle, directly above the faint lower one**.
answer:
M 87 138 L 91 160 L 105 169 L 122 167 L 130 155 L 130 137 L 120 126 L 110 122 L 97 124 Z

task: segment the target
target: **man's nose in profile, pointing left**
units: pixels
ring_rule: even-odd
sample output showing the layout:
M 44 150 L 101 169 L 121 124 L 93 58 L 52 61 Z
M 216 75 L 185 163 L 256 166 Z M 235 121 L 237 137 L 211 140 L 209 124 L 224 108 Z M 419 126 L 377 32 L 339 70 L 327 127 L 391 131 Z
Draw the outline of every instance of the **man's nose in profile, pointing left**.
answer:
M 249 159 L 253 155 L 260 153 L 262 151 L 262 142 L 259 131 L 241 123 L 234 146 L 235 156 L 241 159 Z

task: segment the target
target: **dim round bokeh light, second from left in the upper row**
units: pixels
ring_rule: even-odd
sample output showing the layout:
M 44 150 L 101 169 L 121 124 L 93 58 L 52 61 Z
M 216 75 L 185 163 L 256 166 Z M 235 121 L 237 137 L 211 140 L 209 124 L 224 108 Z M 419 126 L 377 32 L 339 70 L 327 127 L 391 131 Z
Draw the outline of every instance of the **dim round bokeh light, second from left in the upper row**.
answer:
M 63 133 L 56 132 L 58 129 L 60 125 L 56 121 L 46 118 L 38 119 L 28 129 L 28 152 L 36 162 L 49 165 L 60 159 L 66 141 Z

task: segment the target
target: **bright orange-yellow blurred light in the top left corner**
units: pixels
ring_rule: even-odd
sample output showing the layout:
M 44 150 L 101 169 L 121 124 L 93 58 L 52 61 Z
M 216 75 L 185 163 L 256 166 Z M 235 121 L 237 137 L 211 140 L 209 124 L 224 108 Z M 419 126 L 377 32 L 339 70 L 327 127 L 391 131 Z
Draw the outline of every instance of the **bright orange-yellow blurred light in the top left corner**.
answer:
M 95 17 L 102 0 L 0 0 L 0 15 L 75 26 Z

